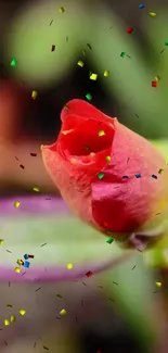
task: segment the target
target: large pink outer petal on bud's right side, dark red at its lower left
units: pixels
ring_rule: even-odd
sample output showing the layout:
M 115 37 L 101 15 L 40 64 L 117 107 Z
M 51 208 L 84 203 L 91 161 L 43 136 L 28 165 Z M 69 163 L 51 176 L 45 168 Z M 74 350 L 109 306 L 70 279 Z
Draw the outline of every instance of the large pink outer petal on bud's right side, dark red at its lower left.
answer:
M 134 231 L 157 213 L 165 184 L 160 175 L 157 180 L 152 175 L 158 175 L 165 162 L 147 140 L 119 123 L 115 123 L 111 156 L 103 179 L 92 184 L 93 218 L 114 232 Z

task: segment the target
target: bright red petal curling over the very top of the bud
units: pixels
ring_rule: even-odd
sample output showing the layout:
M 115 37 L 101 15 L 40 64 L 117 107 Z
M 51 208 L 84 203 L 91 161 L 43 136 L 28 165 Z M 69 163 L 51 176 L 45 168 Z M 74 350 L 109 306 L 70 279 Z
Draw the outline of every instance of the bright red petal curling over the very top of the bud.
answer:
M 65 118 L 72 114 L 90 117 L 90 118 L 92 117 L 92 118 L 99 119 L 99 121 L 103 119 L 104 117 L 107 117 L 108 119 L 112 121 L 111 117 L 103 114 L 96 108 L 94 108 L 93 105 L 89 104 L 88 102 L 86 102 L 81 99 L 73 99 L 66 103 L 66 105 L 63 108 L 63 110 L 61 112 L 62 122 L 64 122 Z

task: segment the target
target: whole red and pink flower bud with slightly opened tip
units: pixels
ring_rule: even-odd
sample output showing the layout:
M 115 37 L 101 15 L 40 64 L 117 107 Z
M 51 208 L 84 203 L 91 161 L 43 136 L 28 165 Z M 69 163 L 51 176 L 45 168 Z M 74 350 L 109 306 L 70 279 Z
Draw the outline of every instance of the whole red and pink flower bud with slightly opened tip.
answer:
M 156 215 L 166 207 L 168 172 L 159 151 L 82 100 L 69 101 L 61 119 L 56 142 L 41 150 L 72 211 L 140 250 L 160 237 L 164 229 Z

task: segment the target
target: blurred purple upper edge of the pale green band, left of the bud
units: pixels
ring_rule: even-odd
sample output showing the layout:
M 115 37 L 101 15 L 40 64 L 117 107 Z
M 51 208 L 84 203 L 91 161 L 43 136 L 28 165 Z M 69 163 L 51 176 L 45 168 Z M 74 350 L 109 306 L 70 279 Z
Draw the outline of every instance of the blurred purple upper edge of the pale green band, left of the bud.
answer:
M 14 207 L 14 202 L 18 201 L 20 207 Z M 21 216 L 23 214 L 57 214 L 69 213 L 65 202 L 57 197 L 15 197 L 0 199 L 0 216 Z

